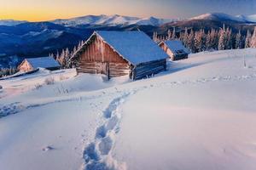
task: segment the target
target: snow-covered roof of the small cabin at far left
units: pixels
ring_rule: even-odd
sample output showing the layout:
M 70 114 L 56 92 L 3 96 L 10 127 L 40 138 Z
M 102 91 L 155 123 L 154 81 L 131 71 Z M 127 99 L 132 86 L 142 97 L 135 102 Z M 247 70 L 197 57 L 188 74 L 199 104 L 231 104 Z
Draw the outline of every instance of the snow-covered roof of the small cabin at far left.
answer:
M 60 64 L 52 57 L 28 58 L 26 60 L 33 68 L 51 68 L 60 66 Z

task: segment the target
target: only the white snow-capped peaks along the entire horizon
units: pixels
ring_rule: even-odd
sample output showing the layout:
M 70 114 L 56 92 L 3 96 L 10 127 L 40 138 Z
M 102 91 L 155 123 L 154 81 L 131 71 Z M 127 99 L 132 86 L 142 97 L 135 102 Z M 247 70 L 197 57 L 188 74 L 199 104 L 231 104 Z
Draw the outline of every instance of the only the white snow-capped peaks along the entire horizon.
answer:
M 57 19 L 49 20 L 47 22 L 54 23 L 61 26 L 81 26 L 81 25 L 91 25 L 91 26 L 161 26 L 166 23 L 174 21 L 182 21 L 185 19 L 159 19 L 153 16 L 148 18 L 139 18 L 132 16 L 122 16 L 119 14 L 114 15 L 85 15 L 81 17 L 75 17 L 71 19 Z M 230 15 L 224 13 L 208 13 L 195 16 L 187 20 L 231 20 L 242 23 L 256 23 L 256 14 L 252 15 Z M 26 23 L 26 20 L 0 20 L 0 26 L 16 26 L 22 23 Z

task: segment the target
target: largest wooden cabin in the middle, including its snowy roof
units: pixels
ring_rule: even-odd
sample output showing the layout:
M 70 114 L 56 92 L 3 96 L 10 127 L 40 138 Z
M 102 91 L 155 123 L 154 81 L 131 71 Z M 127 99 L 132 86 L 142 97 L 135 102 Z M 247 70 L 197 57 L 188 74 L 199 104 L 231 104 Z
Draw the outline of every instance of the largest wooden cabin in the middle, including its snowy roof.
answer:
M 70 63 L 78 72 L 137 80 L 165 71 L 167 58 L 142 31 L 95 31 Z

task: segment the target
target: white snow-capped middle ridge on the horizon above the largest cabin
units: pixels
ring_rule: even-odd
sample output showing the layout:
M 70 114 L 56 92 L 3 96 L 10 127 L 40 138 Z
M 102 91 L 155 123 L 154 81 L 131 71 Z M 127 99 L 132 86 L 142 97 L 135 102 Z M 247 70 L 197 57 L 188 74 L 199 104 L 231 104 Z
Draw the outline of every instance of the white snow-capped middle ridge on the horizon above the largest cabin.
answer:
M 172 20 L 157 19 L 154 17 L 138 18 L 131 16 L 114 15 L 87 15 L 67 20 L 52 20 L 58 25 L 63 26 L 79 26 L 79 25 L 103 25 L 103 26 L 115 26 L 115 25 L 138 25 L 138 26 L 160 26 L 166 22 Z

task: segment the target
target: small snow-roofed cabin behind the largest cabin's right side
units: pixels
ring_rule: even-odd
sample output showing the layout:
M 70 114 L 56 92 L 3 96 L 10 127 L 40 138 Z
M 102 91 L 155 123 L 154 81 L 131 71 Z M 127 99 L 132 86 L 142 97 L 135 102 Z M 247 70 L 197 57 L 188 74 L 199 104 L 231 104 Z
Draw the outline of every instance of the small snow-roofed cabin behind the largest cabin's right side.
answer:
M 160 42 L 160 48 L 162 48 L 166 54 L 169 55 L 170 59 L 180 60 L 188 59 L 189 49 L 183 46 L 183 42 L 178 40 Z

